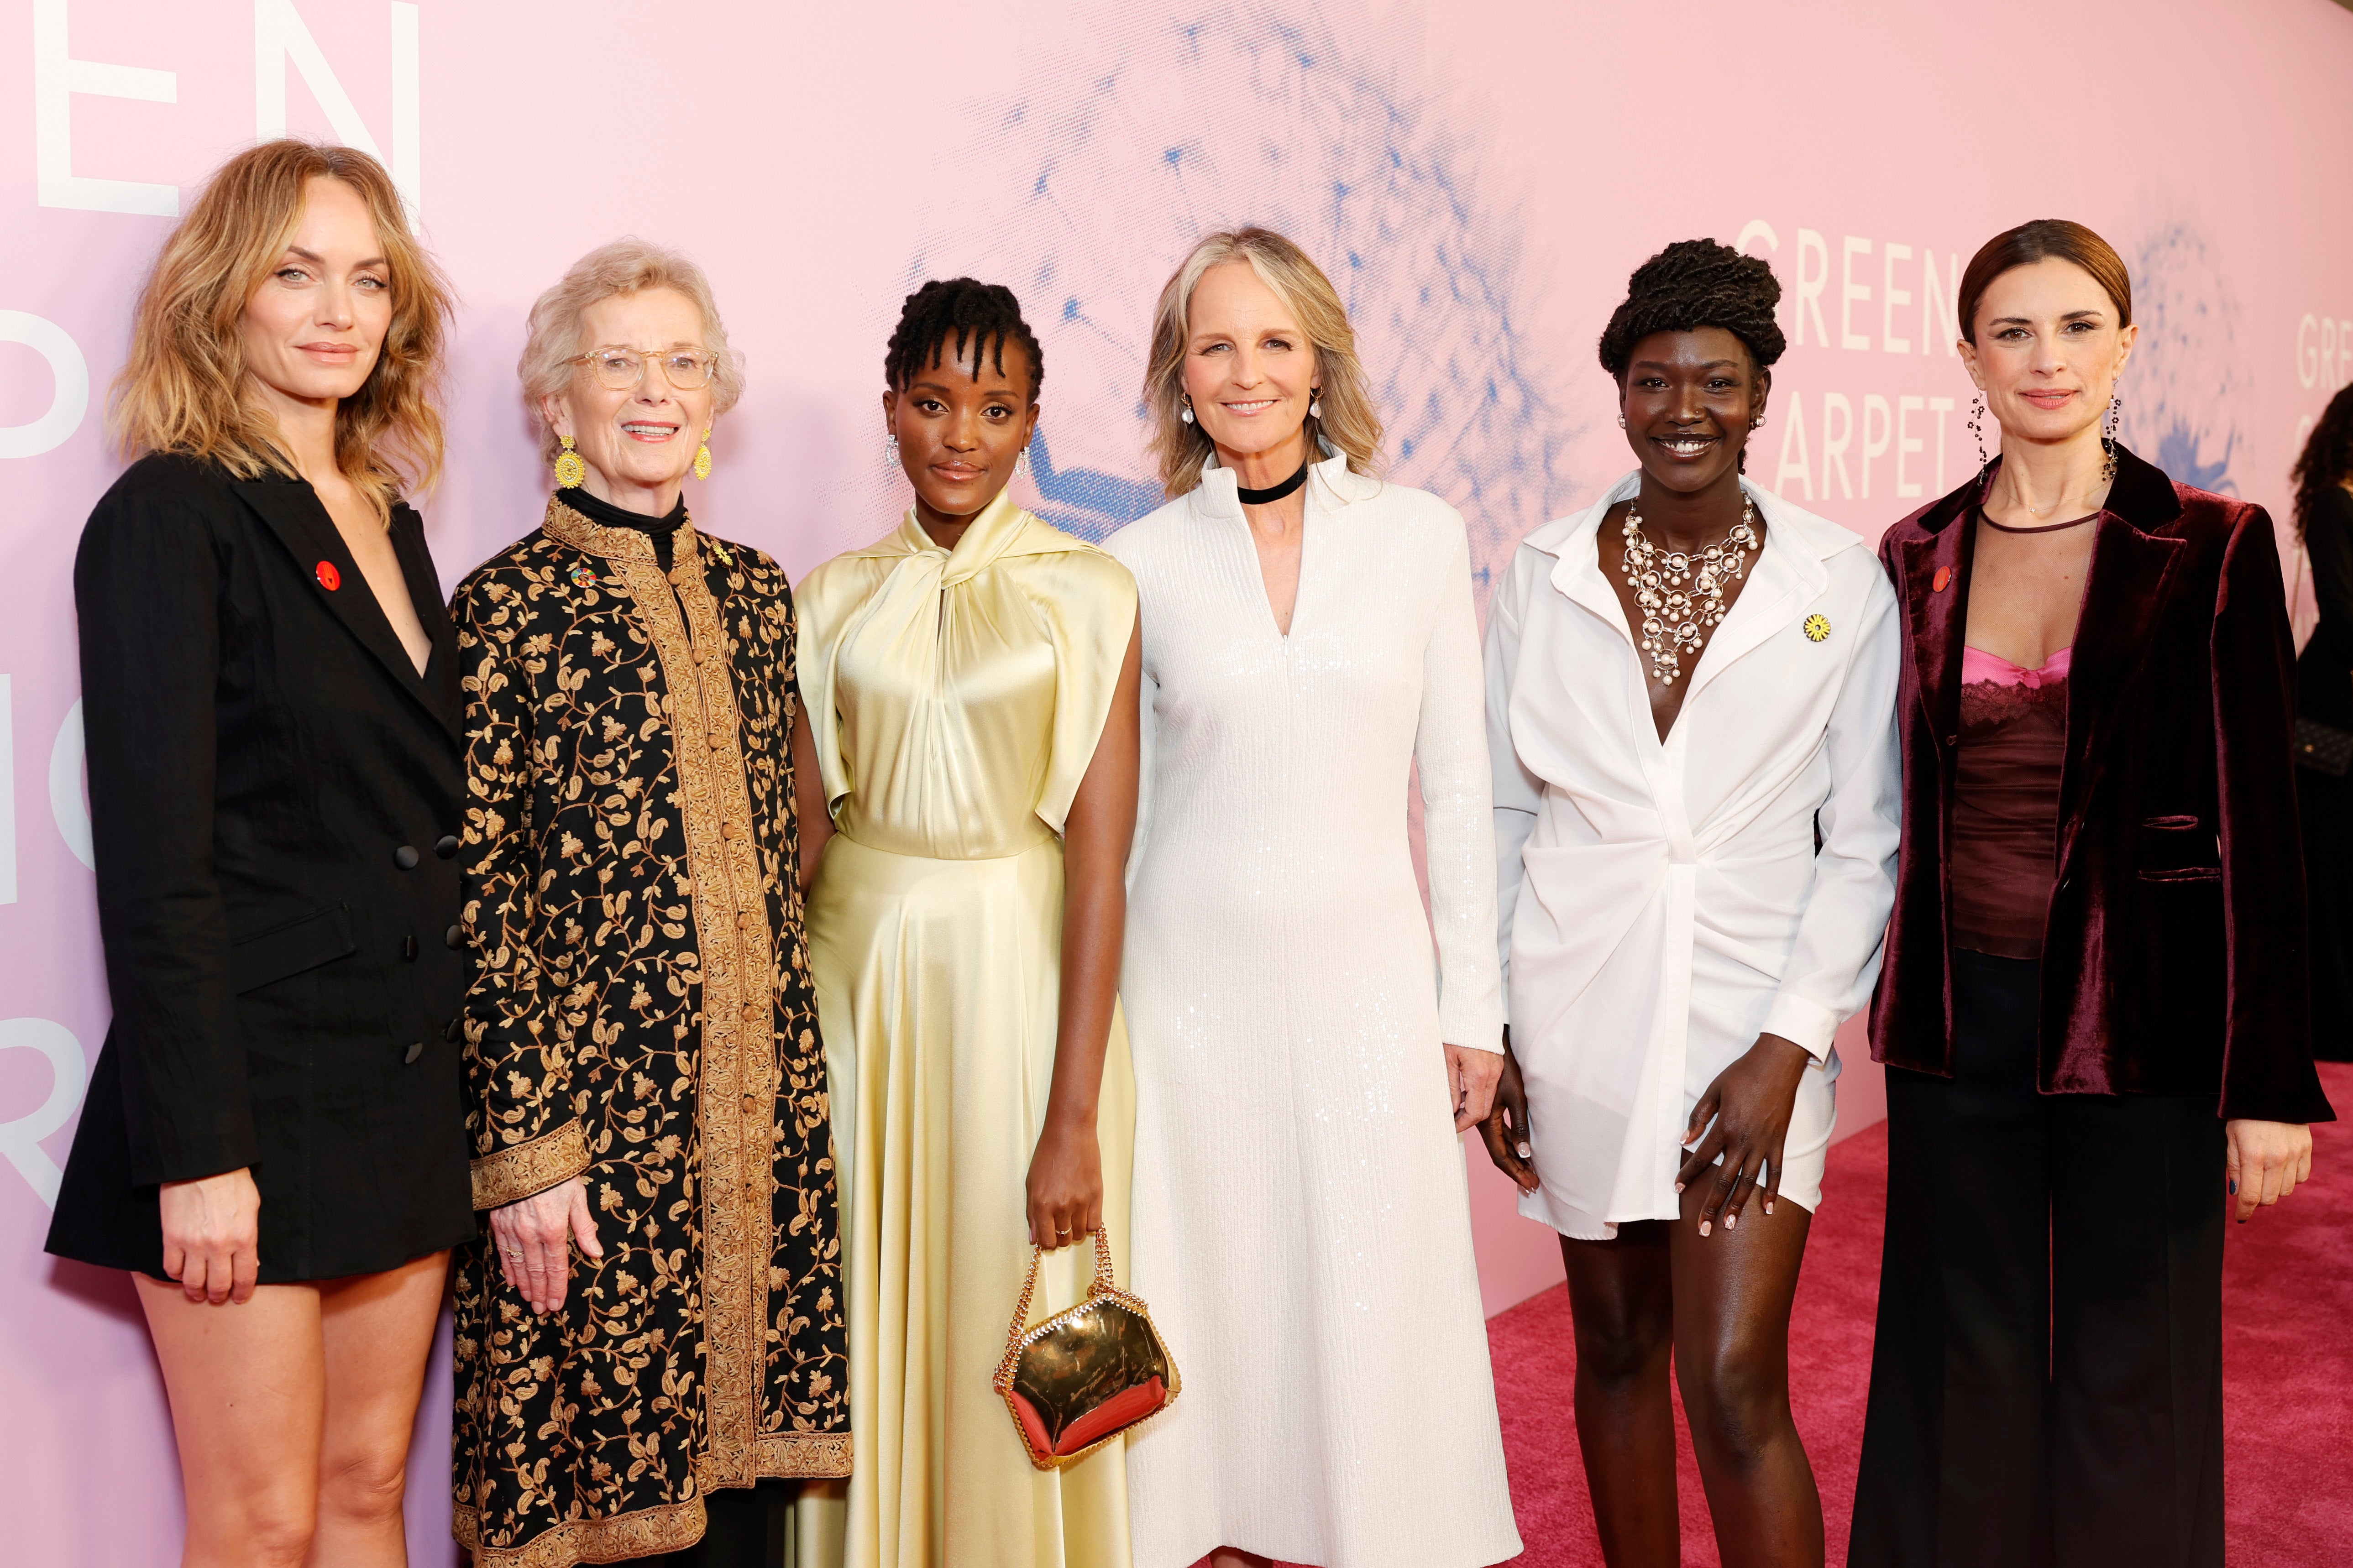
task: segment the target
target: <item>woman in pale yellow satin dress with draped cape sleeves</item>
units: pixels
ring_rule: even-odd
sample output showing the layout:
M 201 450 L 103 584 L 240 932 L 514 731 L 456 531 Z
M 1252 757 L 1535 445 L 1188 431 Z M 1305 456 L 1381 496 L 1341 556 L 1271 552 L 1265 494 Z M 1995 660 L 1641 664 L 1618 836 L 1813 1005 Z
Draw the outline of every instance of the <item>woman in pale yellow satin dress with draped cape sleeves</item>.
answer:
M 1012 292 L 908 296 L 885 360 L 915 505 L 800 585 L 833 823 L 809 889 L 849 1309 L 849 1568 L 1127 1568 L 1125 1446 L 1033 1469 L 991 1373 L 1127 1269 L 1118 1016 L 1136 585 L 1009 494 L 1042 357 Z M 826 816 L 826 813 L 812 813 Z

